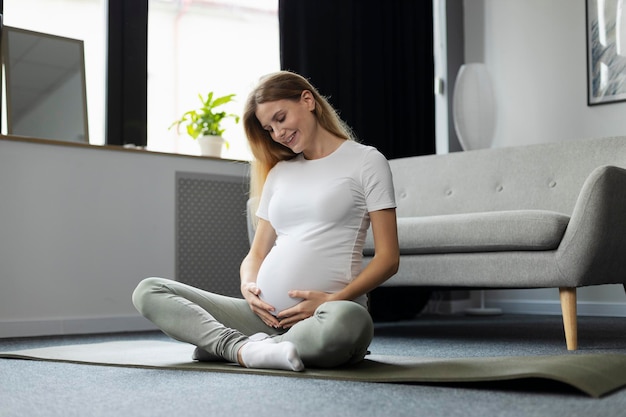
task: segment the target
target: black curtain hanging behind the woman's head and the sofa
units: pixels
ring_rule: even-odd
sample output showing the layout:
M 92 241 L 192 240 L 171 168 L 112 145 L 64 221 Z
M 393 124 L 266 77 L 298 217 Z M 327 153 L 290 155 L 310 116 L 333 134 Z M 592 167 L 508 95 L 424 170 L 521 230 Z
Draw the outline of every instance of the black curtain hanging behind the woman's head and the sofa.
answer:
M 279 0 L 281 68 L 387 158 L 435 152 L 432 1 Z

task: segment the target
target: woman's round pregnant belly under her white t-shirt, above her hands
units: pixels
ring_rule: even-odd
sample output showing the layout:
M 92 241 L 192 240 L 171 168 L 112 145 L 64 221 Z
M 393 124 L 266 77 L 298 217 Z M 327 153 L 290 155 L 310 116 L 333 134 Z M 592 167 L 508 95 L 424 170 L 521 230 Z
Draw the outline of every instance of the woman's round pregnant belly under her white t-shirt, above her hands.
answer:
M 278 314 L 302 301 L 289 297 L 290 290 L 335 292 L 345 285 L 338 275 L 327 257 L 291 240 L 272 248 L 259 270 L 257 286 L 261 299 Z

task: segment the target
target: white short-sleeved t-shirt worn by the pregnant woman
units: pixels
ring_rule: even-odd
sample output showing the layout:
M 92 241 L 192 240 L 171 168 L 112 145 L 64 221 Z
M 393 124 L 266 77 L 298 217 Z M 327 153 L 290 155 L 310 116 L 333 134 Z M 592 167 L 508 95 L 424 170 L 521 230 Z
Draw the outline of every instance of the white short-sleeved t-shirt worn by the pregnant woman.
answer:
M 276 164 L 257 211 L 277 234 L 257 276 L 261 298 L 279 313 L 301 301 L 289 290 L 344 288 L 362 268 L 369 212 L 395 207 L 389 163 L 371 146 L 345 141 L 327 157 Z

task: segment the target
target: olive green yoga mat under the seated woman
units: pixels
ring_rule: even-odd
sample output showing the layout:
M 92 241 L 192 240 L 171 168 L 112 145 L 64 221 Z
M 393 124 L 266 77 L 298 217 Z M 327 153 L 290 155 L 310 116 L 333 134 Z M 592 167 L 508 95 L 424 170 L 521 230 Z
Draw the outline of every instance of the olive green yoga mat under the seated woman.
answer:
M 53 346 L 0 353 L 0 358 L 103 366 L 237 372 L 295 378 L 383 383 L 468 383 L 540 378 L 602 397 L 626 385 L 626 354 L 426 358 L 369 355 L 356 365 L 289 372 L 247 369 L 222 362 L 191 360 L 193 346 L 164 341 L 122 341 Z

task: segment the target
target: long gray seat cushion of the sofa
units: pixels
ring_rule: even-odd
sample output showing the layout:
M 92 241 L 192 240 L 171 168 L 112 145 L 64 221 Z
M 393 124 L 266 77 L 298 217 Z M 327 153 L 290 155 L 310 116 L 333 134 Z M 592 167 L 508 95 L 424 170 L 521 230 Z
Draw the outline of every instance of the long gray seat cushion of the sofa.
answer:
M 556 249 L 569 216 L 543 210 L 510 210 L 443 216 L 399 217 L 402 255 Z M 368 235 L 364 253 L 373 254 Z

